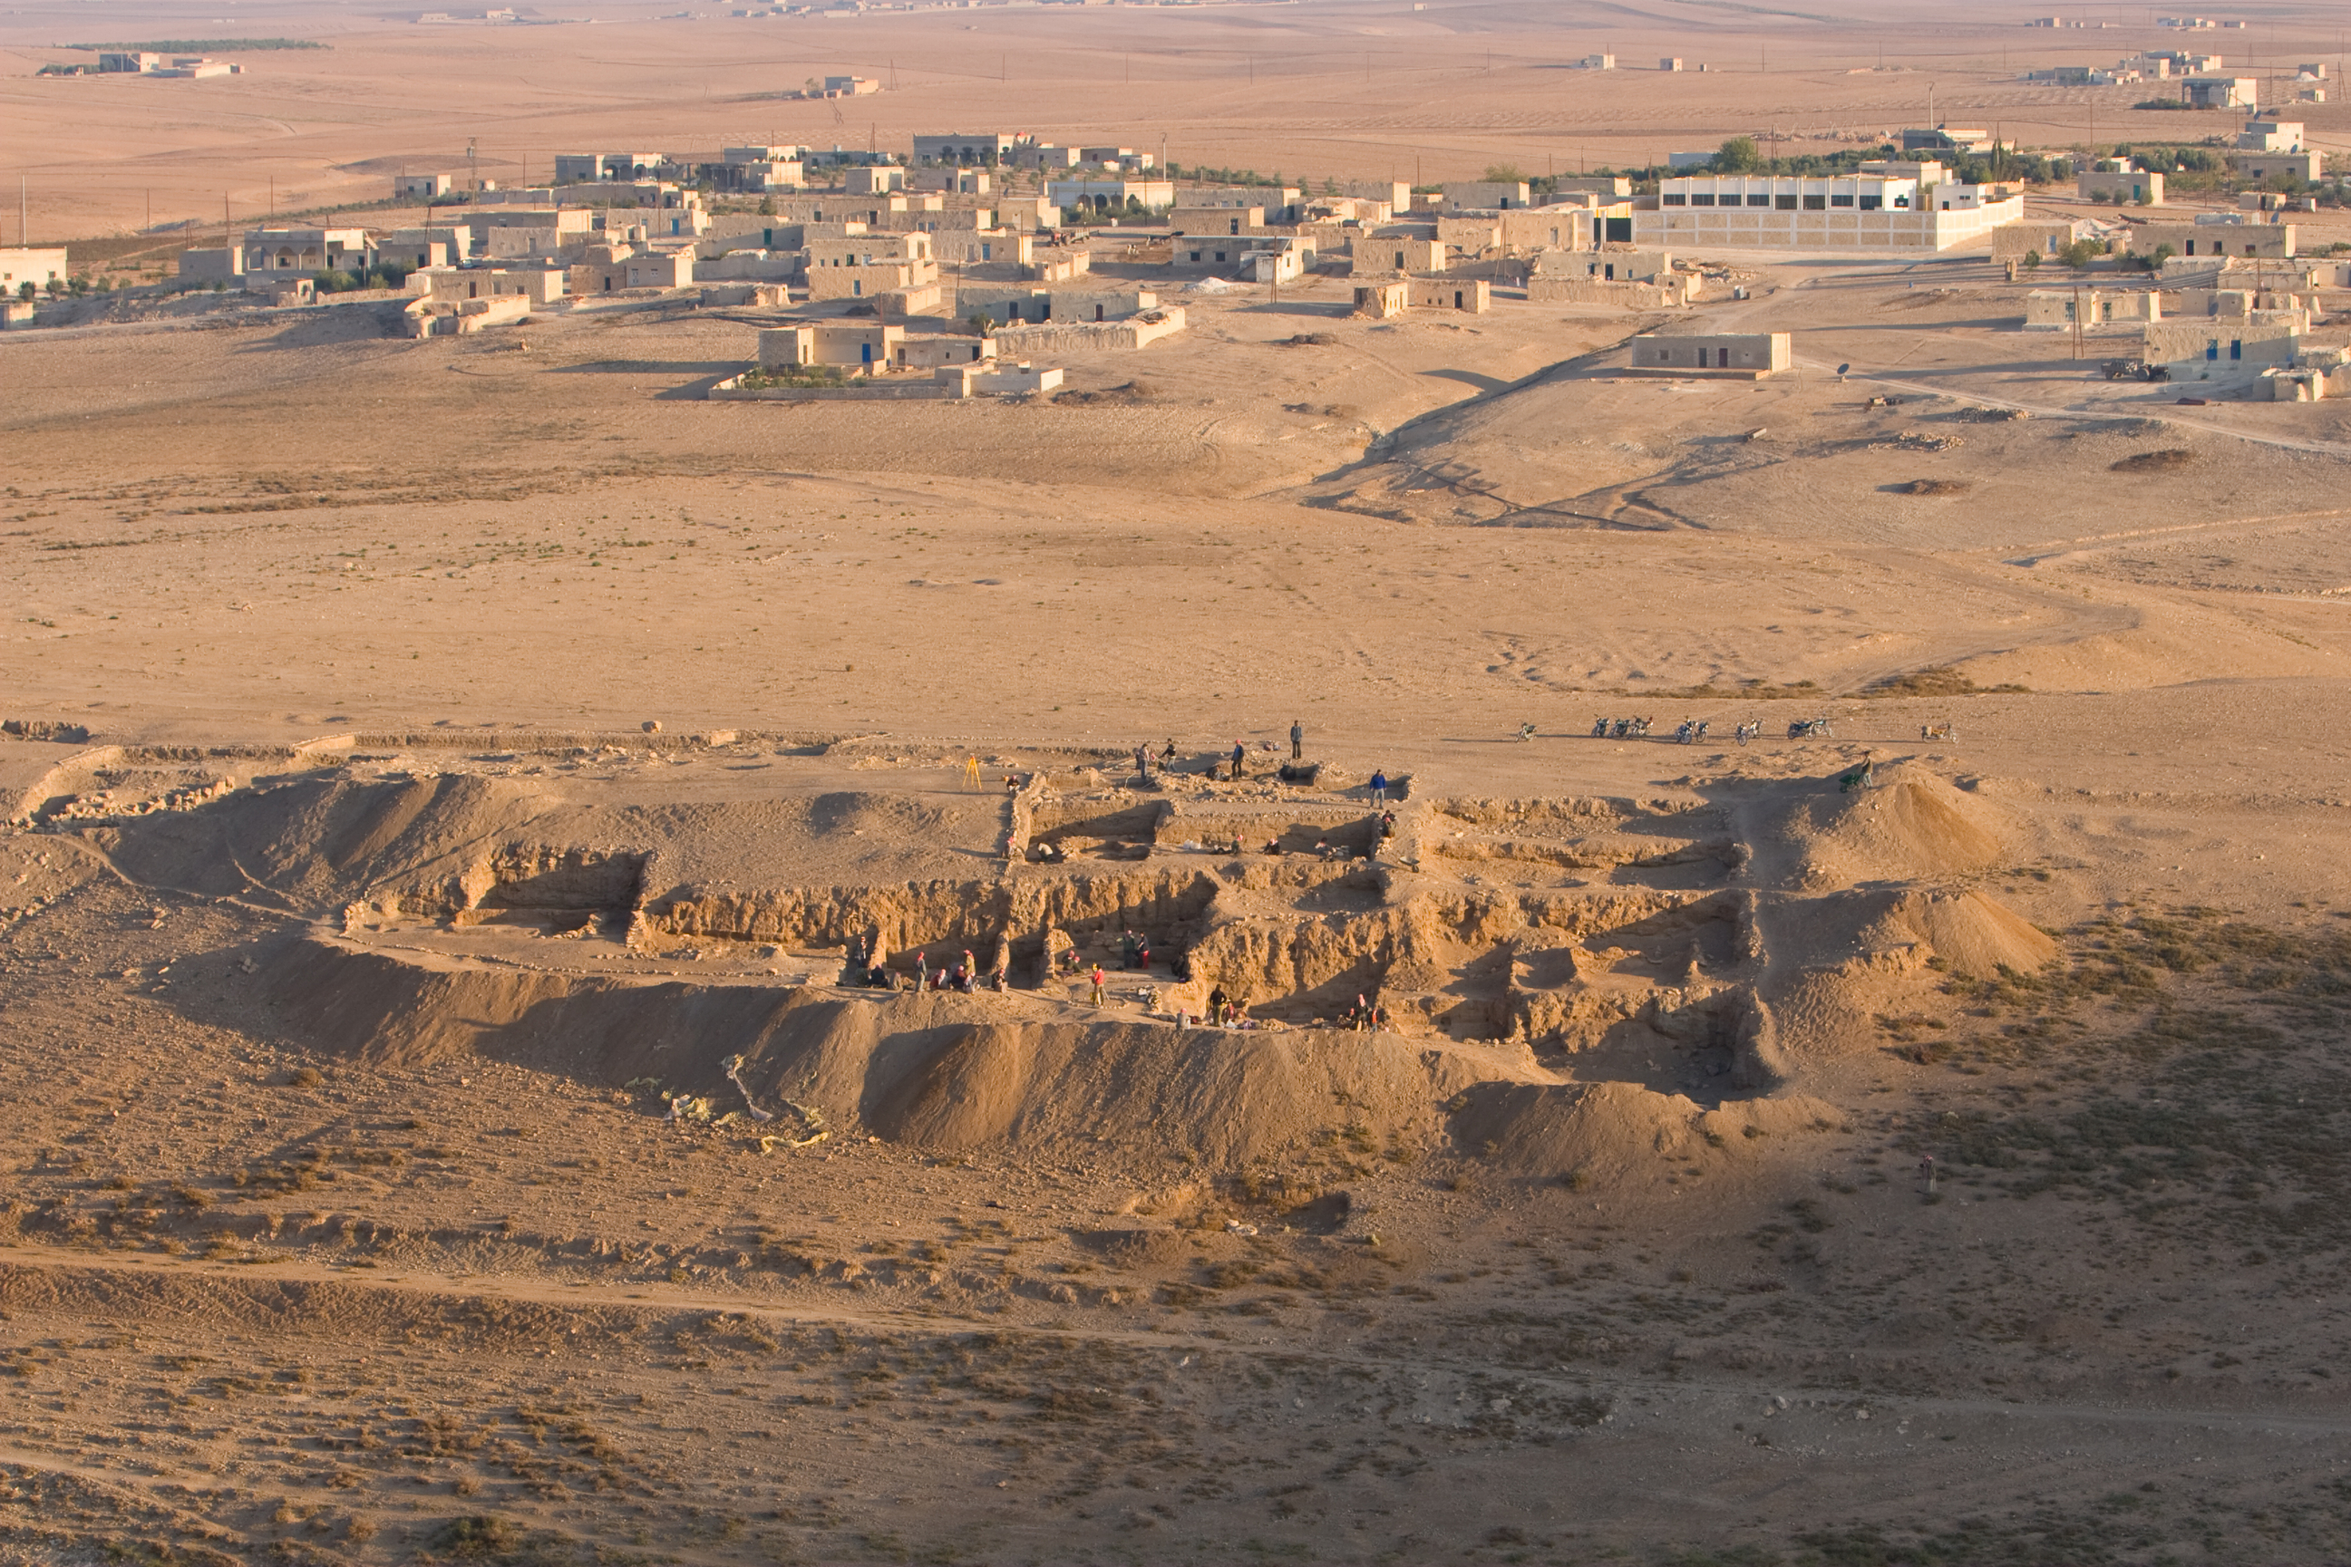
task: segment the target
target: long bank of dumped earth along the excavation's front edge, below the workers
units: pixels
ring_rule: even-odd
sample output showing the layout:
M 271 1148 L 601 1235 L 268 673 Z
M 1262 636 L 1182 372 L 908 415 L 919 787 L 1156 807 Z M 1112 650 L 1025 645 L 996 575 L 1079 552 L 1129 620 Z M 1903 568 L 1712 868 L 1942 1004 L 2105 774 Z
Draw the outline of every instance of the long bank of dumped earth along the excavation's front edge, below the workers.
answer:
M 1239 1163 L 1338 1135 L 1418 1151 L 1448 1095 L 1552 1081 L 1502 1050 L 1394 1034 L 1037 1024 L 1009 996 L 426 966 L 336 937 L 289 942 L 263 982 L 277 1029 L 322 1050 L 397 1067 L 480 1052 L 607 1088 L 651 1078 L 719 1114 L 743 1107 L 724 1071 L 741 1055 L 766 1109 L 790 1099 L 940 1154 L 1107 1139 Z

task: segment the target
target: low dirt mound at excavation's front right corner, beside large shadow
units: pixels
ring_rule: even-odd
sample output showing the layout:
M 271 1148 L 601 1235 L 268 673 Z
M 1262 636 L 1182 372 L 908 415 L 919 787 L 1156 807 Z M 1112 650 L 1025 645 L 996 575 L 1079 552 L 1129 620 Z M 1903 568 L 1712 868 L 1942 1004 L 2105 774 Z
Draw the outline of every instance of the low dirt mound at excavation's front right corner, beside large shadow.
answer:
M 1453 1139 L 1498 1170 L 1622 1191 L 1662 1179 L 1674 1161 L 1747 1156 L 1841 1123 L 1836 1107 L 1803 1095 L 1707 1111 L 1636 1083 L 1486 1083 L 1462 1095 Z

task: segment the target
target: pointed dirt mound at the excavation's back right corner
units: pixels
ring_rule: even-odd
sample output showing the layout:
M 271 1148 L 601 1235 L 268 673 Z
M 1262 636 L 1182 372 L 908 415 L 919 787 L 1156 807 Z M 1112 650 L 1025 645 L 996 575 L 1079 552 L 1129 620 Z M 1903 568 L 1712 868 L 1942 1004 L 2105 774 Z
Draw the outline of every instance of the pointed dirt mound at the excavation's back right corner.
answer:
M 1923 766 L 1878 773 L 1871 789 L 1806 799 L 1789 836 L 1806 886 L 1916 881 L 1980 869 L 2001 858 L 2005 829 L 1984 801 Z

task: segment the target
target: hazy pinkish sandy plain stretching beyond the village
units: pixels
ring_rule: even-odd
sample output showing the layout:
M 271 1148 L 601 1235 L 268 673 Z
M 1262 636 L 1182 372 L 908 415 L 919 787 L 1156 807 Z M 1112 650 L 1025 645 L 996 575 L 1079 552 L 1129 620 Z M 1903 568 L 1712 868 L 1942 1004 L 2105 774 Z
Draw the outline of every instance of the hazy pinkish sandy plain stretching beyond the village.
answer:
M 480 14 L 482 7 L 473 7 Z M 235 16 L 132 0 L 92 35 L 85 7 L 33 0 L 0 16 L 0 134 L 26 148 L 40 242 L 183 221 L 219 233 L 280 211 L 374 202 L 393 174 L 545 181 L 555 153 L 731 141 L 903 148 L 915 132 L 1009 125 L 1065 143 L 1126 143 L 1180 164 L 1357 179 L 1476 179 L 1662 162 L 1754 134 L 1780 153 L 1871 146 L 1930 117 L 1996 125 L 2024 146 L 2201 139 L 2219 115 L 2135 110 L 2149 87 L 2043 87 L 2027 68 L 2109 66 L 2198 47 L 2285 82 L 2299 61 L 2342 75 L 2335 7 L 2245 9 L 2243 31 L 2184 35 L 2130 12 L 2036 31 L 2017 12 L 1893 5 L 1806 9 L 1585 0 L 1312 0 L 1218 7 L 1034 7 L 752 21 L 734 7 L 581 0 L 524 9 L 592 26 L 414 26 L 416 12 L 240 0 Z M 195 14 L 205 12 L 205 14 Z M 329 52 L 237 56 L 202 82 L 33 80 L 89 61 L 71 42 L 310 38 Z M 1615 52 L 1620 70 L 1570 66 Z M 1655 70 L 1681 56 L 1688 70 Z M 1700 73 L 1697 66 L 1712 66 Z M 889 92 L 792 101 L 811 75 Z M 2156 94 L 2161 96 L 2161 94 Z M 2318 146 L 2351 150 L 2351 106 L 2295 106 Z M 2193 125 L 2186 125 L 2193 122 Z M 153 211 L 153 218 L 148 216 Z M 14 240 L 14 218 L 7 221 Z

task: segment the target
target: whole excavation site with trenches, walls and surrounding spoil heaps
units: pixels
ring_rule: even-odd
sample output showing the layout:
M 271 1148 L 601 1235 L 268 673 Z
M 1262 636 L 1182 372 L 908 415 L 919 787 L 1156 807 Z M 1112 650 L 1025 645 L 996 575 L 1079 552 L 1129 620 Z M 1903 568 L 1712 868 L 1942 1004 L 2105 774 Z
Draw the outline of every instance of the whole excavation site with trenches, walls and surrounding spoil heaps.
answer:
M 1498 1083 L 1502 1121 L 1594 1083 L 1712 1114 L 1848 1038 L 1855 987 L 1918 982 L 1935 954 L 1989 973 L 2050 951 L 1977 890 L 1893 879 L 2001 841 L 1923 773 L 1862 799 L 1775 782 L 1742 806 L 1420 801 L 1382 839 L 1357 799 L 1192 780 L 1166 799 L 842 789 L 816 759 L 797 792 L 743 796 L 675 761 L 473 761 L 503 771 L 263 773 L 85 836 L 132 881 L 301 919 L 240 951 L 287 1038 L 489 1052 L 719 1107 L 738 1107 L 722 1062 L 741 1057 L 769 1109 L 940 1151 L 1119 1135 L 1248 1158 L 1324 1135 L 1335 1102 L 1436 1146 L 1434 1104 Z M 1128 935 L 1147 970 L 1121 968 Z M 966 951 L 1009 989 L 868 984 L 870 954 L 915 975 Z M 1213 994 L 1253 1027 L 1185 1027 Z M 1333 1027 L 1366 1001 L 1378 1029 Z

